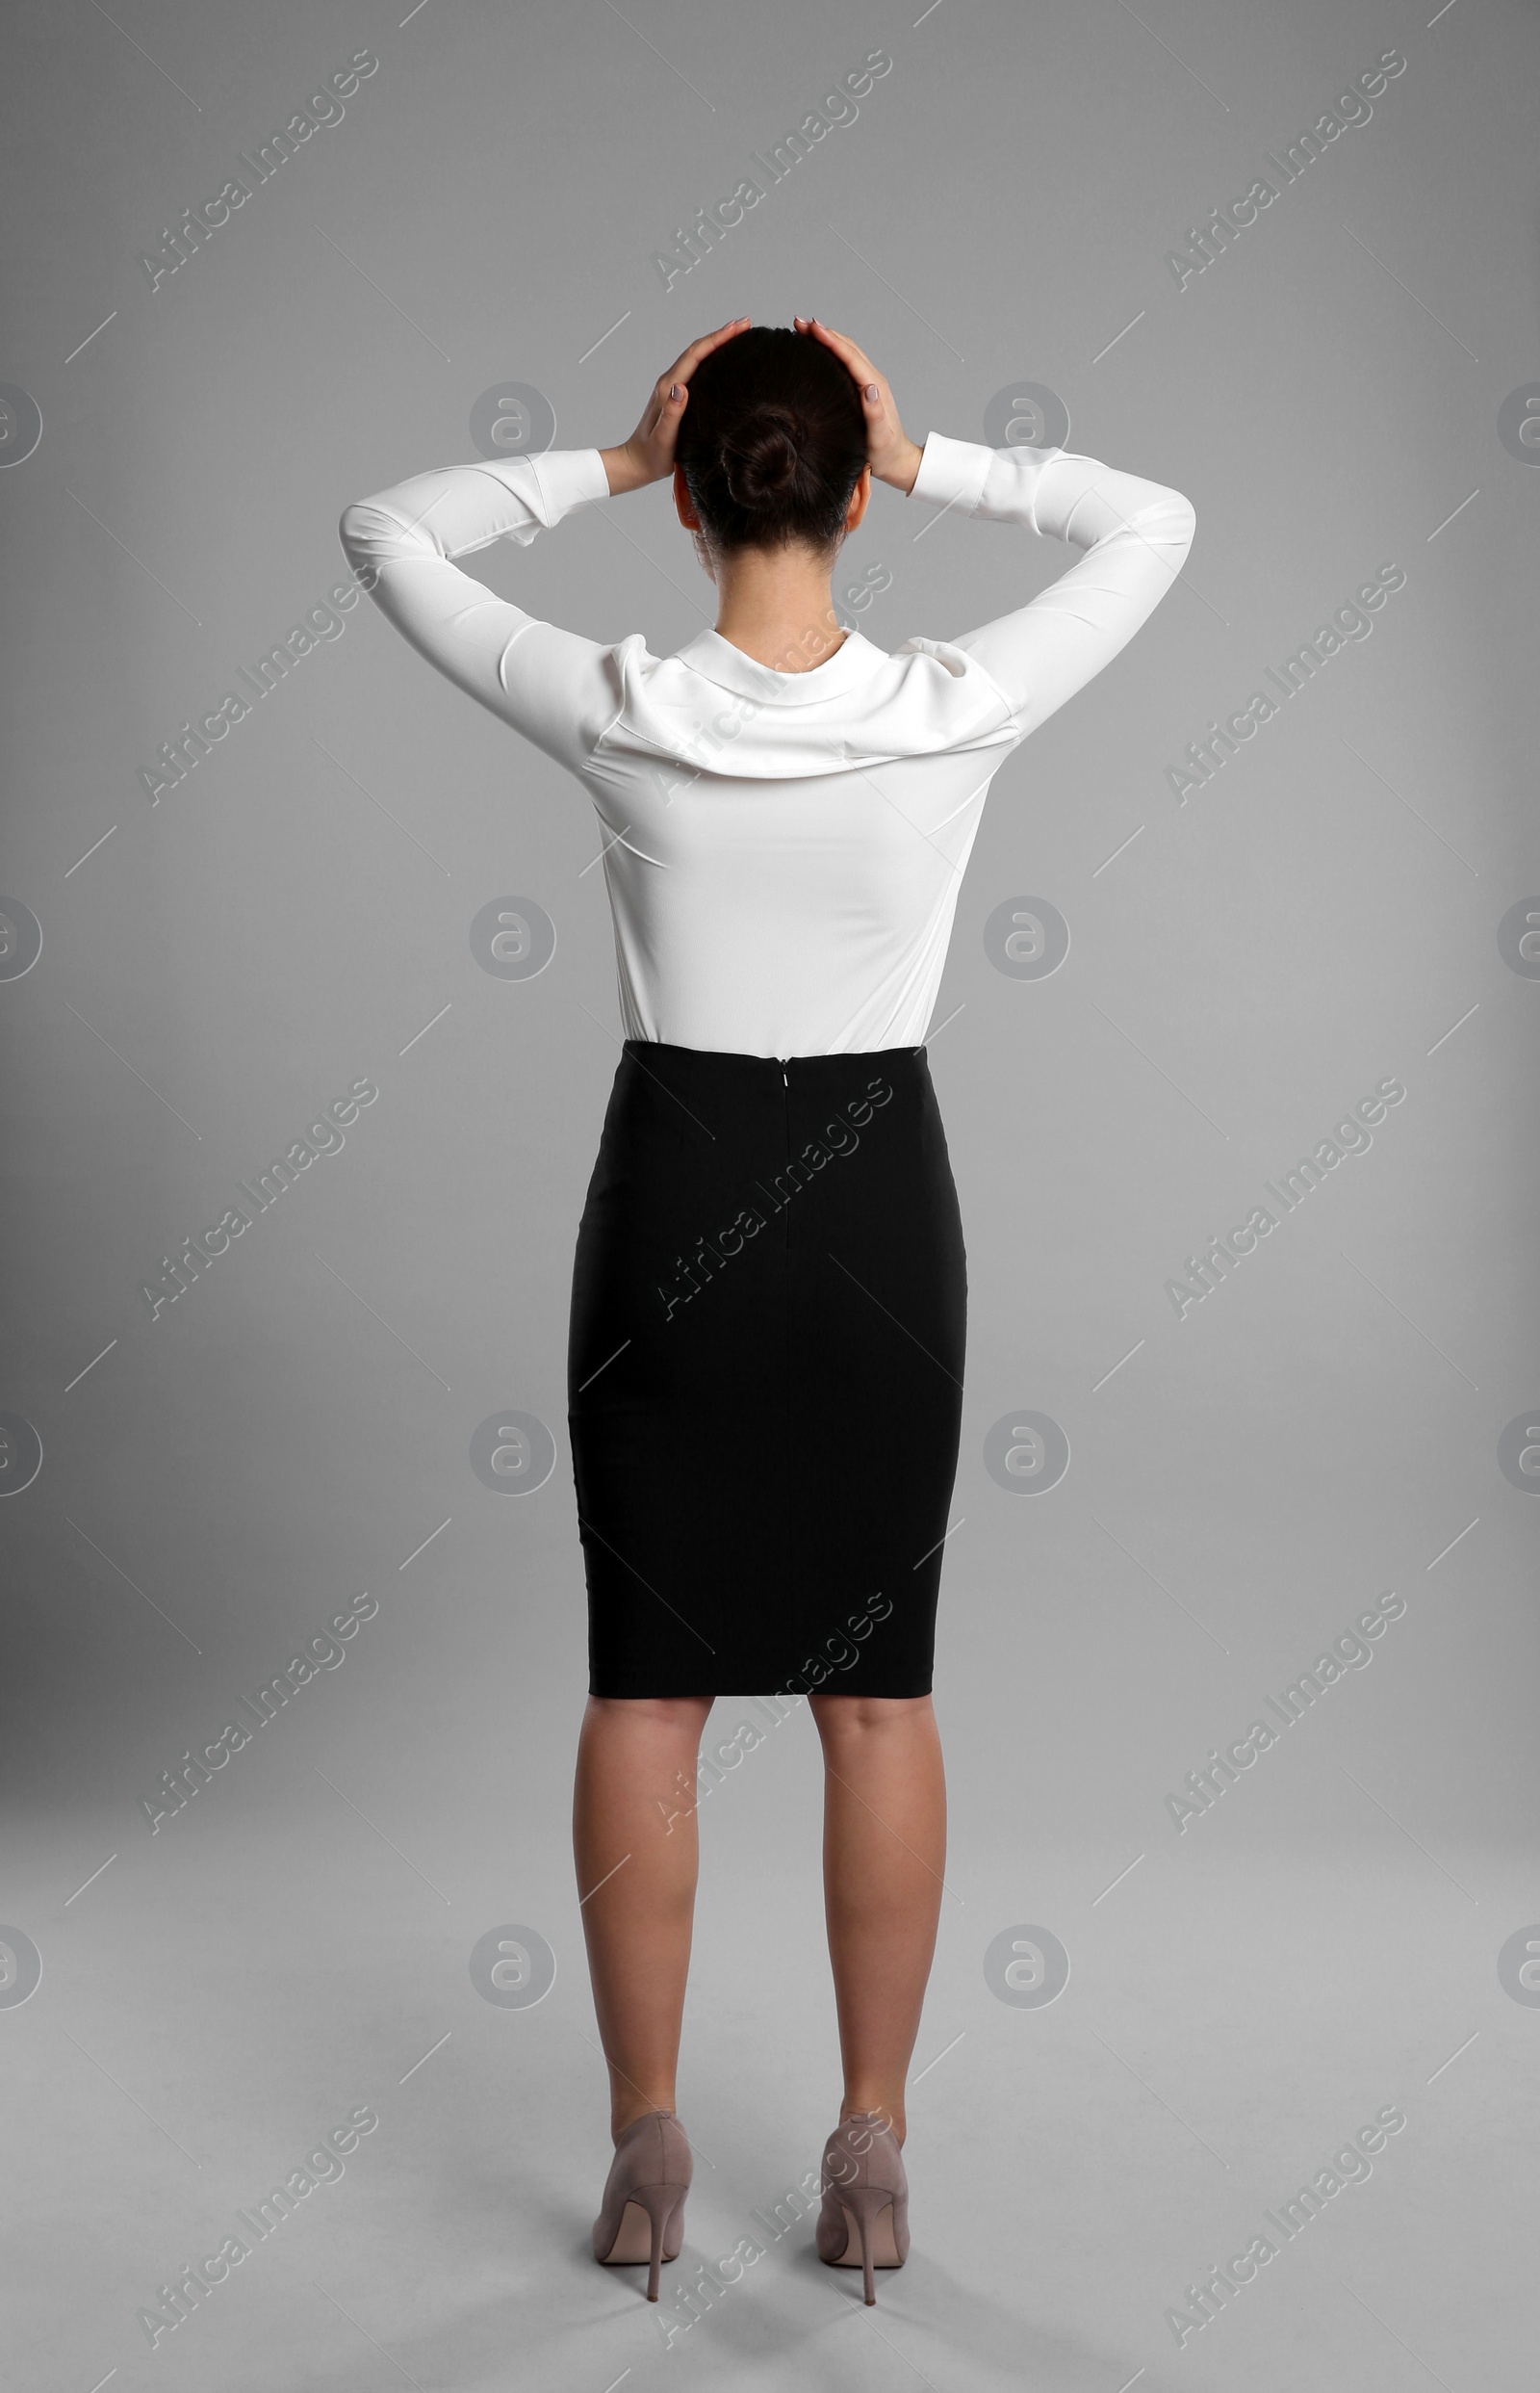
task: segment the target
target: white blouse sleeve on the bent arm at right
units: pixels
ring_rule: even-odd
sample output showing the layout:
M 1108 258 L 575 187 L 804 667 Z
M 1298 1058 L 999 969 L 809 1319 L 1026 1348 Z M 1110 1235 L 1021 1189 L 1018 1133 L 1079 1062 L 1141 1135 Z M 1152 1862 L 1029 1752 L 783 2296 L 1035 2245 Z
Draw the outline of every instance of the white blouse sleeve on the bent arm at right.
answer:
M 930 433 L 909 498 L 1021 524 L 1086 550 L 1012 615 L 947 641 L 978 658 L 1019 732 L 1112 663 L 1181 572 L 1198 517 L 1181 491 L 1059 447 L 983 447 Z

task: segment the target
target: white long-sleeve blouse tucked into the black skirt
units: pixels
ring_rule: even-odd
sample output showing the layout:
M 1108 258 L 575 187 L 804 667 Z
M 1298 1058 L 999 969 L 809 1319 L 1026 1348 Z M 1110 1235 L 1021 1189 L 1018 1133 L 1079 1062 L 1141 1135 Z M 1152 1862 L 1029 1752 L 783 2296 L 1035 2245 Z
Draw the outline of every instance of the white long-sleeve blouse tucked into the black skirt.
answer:
M 452 560 L 605 500 L 603 457 L 414 474 L 342 512 L 380 613 L 581 780 L 600 826 L 627 1039 L 739 1055 L 921 1046 L 985 792 L 1167 593 L 1191 503 L 1071 450 L 930 433 L 909 505 L 1083 555 L 1009 615 L 892 656 L 858 629 L 801 672 L 717 632 L 653 656 L 497 598 Z

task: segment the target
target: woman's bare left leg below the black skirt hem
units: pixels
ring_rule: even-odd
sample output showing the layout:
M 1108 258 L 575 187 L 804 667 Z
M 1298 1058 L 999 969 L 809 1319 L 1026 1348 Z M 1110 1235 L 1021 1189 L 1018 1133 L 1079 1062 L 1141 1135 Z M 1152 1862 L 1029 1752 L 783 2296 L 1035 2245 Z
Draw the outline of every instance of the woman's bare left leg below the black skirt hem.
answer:
M 708 1713 L 708 1694 L 591 1694 L 579 1733 L 572 1855 L 615 2142 L 643 2111 L 674 2108 Z

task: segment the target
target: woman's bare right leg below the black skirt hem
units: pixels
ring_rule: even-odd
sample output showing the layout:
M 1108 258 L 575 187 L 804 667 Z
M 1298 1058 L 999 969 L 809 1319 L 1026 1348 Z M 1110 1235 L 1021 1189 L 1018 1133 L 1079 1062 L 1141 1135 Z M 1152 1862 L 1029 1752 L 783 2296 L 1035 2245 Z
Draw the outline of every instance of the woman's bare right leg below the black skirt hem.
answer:
M 947 1859 L 947 1780 L 930 1697 L 808 1697 L 823 1737 L 823 1895 L 844 2101 L 904 2142 Z

